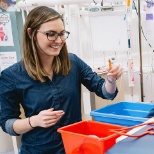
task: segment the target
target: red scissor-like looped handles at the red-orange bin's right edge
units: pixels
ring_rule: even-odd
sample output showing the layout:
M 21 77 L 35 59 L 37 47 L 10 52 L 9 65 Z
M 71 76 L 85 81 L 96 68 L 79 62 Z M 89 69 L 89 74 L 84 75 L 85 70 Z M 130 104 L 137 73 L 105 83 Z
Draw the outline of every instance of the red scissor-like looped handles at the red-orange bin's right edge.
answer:
M 137 134 L 137 135 L 131 135 L 131 134 L 128 134 L 127 132 L 130 130 L 130 129 L 133 129 L 133 128 L 137 128 L 137 127 L 140 127 L 140 126 L 146 126 L 146 125 L 152 125 L 154 124 L 154 122 L 148 122 L 148 123 L 143 123 L 143 124 L 139 124 L 139 125 L 135 125 L 135 126 L 131 126 L 131 127 L 128 127 L 128 128 L 122 128 L 122 129 L 117 129 L 117 130 L 110 130 L 116 134 L 119 134 L 119 135 L 124 135 L 124 136 L 128 136 L 128 137 L 133 137 L 133 138 L 140 138 L 144 135 L 154 135 L 154 127 L 150 127 L 148 129 L 146 129 L 145 132 L 141 133 L 141 134 Z

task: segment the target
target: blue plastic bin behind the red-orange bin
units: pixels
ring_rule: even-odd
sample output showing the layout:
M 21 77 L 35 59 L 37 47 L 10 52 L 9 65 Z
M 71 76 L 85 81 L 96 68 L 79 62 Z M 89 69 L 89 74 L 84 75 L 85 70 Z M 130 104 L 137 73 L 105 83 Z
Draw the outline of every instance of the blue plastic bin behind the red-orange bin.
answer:
M 118 102 L 90 112 L 95 121 L 133 126 L 149 119 L 154 104 L 143 102 Z

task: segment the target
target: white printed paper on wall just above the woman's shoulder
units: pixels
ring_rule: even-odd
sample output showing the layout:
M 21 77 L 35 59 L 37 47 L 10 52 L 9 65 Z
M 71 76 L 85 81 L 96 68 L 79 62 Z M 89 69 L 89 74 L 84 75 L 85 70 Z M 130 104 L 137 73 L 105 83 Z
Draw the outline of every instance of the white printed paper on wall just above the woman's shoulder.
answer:
M 17 62 L 17 55 L 15 51 L 0 52 L 0 73 L 7 67 Z

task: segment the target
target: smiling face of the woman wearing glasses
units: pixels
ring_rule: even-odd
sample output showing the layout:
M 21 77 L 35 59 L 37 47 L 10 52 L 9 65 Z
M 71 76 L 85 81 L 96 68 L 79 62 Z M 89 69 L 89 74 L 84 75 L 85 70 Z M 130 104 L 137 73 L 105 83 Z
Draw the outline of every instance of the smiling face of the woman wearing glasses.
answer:
M 61 19 L 56 19 L 53 21 L 49 21 L 43 23 L 36 35 L 36 40 L 39 46 L 39 56 L 40 58 L 49 58 L 59 55 L 60 50 L 65 43 L 62 41 L 61 38 L 58 36 L 56 40 L 49 41 L 48 38 L 52 38 L 55 33 L 61 33 L 64 31 L 64 25 Z M 43 32 L 43 33 L 42 33 Z M 47 38 L 47 33 L 49 33 L 49 37 Z

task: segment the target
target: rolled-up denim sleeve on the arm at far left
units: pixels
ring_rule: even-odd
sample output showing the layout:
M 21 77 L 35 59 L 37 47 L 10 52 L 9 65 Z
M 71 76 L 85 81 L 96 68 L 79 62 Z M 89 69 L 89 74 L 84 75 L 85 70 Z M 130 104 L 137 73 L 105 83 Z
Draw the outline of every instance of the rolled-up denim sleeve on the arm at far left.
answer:
M 0 76 L 0 103 L 3 131 L 10 135 L 18 135 L 13 130 L 13 123 L 20 119 L 20 99 L 16 91 L 16 82 L 8 69 Z

